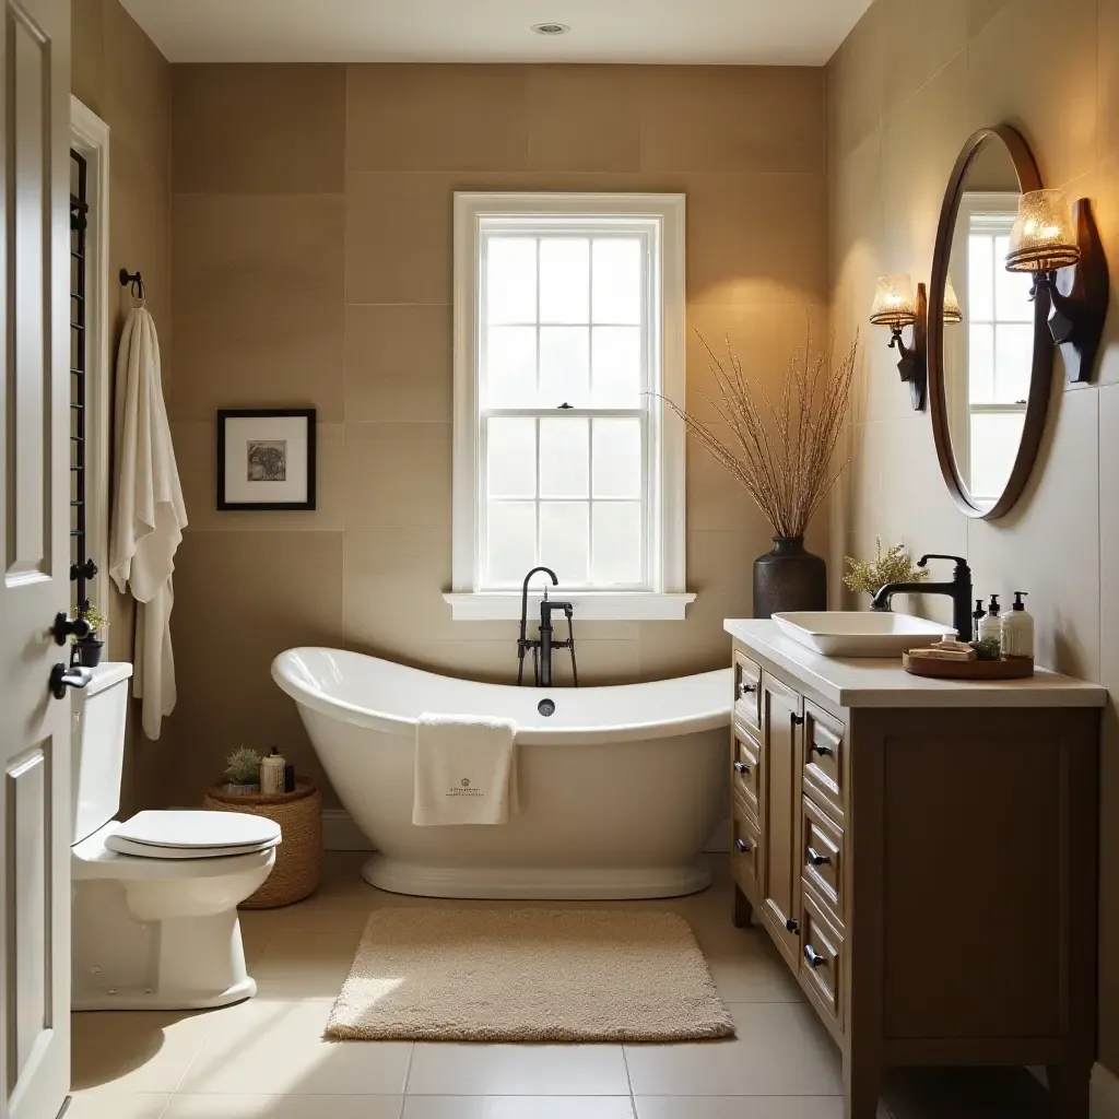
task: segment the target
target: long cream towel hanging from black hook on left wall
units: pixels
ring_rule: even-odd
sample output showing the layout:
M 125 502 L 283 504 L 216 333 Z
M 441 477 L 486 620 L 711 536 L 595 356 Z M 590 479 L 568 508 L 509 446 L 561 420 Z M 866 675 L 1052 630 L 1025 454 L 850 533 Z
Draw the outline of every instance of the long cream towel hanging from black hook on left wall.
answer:
M 175 709 L 171 573 L 187 526 L 171 429 L 167 422 L 156 323 L 143 307 L 124 321 L 116 355 L 116 493 L 110 575 L 137 601 L 132 694 L 143 700 L 143 732 L 159 737 Z

